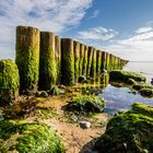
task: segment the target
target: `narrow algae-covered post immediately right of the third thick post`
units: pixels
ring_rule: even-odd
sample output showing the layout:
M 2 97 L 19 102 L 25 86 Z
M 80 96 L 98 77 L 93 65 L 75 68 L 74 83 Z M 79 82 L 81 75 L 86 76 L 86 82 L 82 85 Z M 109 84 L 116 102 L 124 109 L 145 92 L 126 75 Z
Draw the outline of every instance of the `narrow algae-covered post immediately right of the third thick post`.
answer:
M 75 82 L 78 82 L 79 79 L 79 62 L 80 62 L 80 43 L 79 42 L 73 42 L 73 47 L 74 47 L 74 78 Z

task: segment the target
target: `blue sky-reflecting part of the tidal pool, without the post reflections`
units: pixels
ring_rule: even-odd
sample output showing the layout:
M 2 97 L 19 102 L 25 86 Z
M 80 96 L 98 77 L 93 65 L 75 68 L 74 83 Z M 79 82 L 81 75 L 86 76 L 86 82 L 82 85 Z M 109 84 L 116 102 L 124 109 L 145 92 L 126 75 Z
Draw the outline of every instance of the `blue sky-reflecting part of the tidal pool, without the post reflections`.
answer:
M 136 102 L 153 105 L 153 98 L 142 97 L 139 94 L 134 95 L 129 87 L 115 87 L 110 84 L 107 85 L 104 93 L 99 94 L 99 96 L 105 98 L 105 113 L 108 114 L 128 109 Z

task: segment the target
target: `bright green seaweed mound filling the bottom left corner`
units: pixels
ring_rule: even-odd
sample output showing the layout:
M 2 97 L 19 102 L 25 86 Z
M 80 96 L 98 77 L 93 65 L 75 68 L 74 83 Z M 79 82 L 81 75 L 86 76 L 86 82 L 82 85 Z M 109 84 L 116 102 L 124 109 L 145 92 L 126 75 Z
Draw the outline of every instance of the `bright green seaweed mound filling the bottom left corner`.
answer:
M 0 121 L 0 152 L 64 153 L 64 149 L 56 132 L 45 123 L 5 120 Z

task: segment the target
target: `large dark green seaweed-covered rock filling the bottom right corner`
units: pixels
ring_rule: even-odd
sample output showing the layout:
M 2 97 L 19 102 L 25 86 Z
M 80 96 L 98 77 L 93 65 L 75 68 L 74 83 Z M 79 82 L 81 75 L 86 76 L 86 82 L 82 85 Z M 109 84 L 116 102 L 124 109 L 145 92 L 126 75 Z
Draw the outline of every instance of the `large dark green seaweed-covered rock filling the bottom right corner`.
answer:
M 105 153 L 151 153 L 153 151 L 153 106 L 136 103 L 126 113 L 115 115 L 105 133 L 94 144 Z

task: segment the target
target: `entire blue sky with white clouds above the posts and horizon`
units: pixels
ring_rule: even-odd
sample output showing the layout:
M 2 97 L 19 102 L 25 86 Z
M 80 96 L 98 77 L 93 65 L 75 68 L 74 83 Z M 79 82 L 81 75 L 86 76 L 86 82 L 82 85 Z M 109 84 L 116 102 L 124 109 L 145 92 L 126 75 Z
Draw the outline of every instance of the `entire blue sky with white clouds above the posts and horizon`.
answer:
M 0 0 L 0 58 L 15 58 L 17 25 L 153 61 L 153 0 Z

